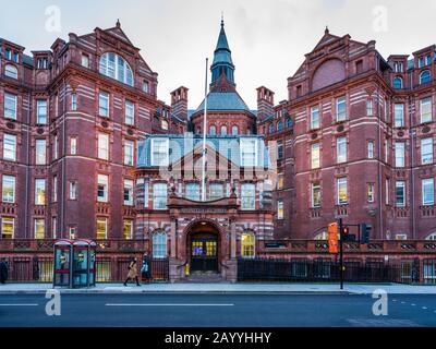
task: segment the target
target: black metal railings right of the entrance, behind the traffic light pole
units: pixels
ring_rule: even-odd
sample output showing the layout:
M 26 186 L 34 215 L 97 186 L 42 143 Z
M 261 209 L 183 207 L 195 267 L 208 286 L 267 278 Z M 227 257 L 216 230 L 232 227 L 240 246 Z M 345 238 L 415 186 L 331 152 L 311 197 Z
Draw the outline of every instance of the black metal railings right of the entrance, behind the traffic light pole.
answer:
M 433 266 L 436 266 L 436 261 Z M 435 275 L 434 272 L 435 269 L 433 269 L 432 275 Z M 238 261 L 238 280 L 339 281 L 340 265 L 330 260 L 240 258 Z M 420 275 L 413 261 L 405 261 L 401 264 L 347 261 L 344 262 L 344 280 L 349 282 L 412 284 L 420 281 Z

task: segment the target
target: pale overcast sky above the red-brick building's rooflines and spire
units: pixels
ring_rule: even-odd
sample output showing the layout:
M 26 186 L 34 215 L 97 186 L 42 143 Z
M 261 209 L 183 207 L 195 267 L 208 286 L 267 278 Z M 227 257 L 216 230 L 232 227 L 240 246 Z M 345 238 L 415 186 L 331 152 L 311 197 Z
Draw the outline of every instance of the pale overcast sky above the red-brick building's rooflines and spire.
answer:
M 5 0 L 0 0 L 5 2 Z M 50 5 L 60 9 L 60 27 L 48 22 Z M 205 58 L 213 58 L 221 11 L 237 67 L 241 96 L 256 108 L 255 88 L 265 85 L 276 103 L 287 98 L 291 76 L 324 35 L 377 41 L 387 58 L 433 45 L 435 0 L 35 0 L 1 4 L 0 37 L 26 47 L 49 49 L 57 37 L 121 27 L 159 74 L 158 98 L 180 85 L 190 88 L 190 108 L 204 94 Z M 47 10 L 49 9 L 49 10 Z M 8 15 L 5 15 L 8 14 Z M 59 31 L 47 31 L 49 27 Z

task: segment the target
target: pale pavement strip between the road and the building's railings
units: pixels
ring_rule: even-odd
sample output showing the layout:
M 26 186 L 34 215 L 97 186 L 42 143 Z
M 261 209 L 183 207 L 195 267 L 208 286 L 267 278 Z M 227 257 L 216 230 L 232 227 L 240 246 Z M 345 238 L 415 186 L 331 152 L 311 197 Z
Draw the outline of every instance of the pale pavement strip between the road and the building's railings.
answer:
M 1 294 L 45 293 L 51 284 L 0 285 Z M 89 289 L 57 288 L 61 293 L 293 293 L 293 294 L 371 294 L 383 289 L 388 294 L 436 294 L 436 286 L 410 286 L 399 284 L 148 284 L 124 287 L 121 284 L 97 284 Z

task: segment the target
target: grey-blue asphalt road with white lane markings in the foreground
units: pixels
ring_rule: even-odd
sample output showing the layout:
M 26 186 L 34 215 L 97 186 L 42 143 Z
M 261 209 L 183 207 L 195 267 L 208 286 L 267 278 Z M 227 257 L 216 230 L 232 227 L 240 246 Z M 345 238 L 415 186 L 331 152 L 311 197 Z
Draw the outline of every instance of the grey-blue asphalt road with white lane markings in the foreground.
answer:
M 1 327 L 436 326 L 436 296 L 389 296 L 388 315 L 354 294 L 63 294 L 48 316 L 44 294 L 0 296 Z

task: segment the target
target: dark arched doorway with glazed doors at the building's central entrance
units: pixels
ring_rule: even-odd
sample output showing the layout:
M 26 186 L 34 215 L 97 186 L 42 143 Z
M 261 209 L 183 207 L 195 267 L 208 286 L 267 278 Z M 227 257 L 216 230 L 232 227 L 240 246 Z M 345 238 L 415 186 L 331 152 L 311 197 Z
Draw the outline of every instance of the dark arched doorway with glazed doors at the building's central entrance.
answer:
M 219 231 L 210 222 L 199 221 L 191 228 L 187 239 L 191 272 L 218 273 L 219 240 Z

